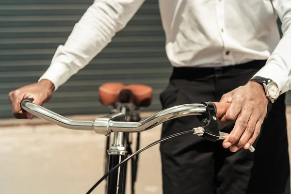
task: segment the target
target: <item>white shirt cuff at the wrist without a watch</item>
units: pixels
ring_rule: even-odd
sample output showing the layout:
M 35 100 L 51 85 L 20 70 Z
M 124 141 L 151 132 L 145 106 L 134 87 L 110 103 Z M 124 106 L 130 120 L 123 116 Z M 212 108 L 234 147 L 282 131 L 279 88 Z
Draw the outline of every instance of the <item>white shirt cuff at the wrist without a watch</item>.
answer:
M 51 64 L 38 81 L 49 80 L 54 84 L 54 91 L 69 79 L 68 67 L 62 63 Z

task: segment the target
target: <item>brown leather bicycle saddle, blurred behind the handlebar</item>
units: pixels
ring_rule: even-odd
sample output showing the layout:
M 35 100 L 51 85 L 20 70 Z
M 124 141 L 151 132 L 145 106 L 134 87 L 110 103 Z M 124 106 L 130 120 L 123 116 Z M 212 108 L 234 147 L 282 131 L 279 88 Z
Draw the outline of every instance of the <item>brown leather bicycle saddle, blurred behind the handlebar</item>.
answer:
M 104 83 L 99 87 L 99 99 L 104 105 L 131 102 L 137 107 L 147 107 L 152 94 L 152 88 L 143 84 Z

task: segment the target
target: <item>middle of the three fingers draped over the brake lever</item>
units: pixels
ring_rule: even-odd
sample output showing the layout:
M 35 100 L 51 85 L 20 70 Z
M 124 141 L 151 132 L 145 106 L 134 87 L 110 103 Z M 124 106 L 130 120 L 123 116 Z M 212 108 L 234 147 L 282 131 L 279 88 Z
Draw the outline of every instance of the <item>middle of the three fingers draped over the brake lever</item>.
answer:
M 250 119 L 247 123 L 246 129 L 243 131 L 241 138 L 239 141 L 234 144 L 233 146 L 230 146 L 230 151 L 237 151 L 238 149 L 241 149 L 243 146 L 245 146 L 252 135 L 254 134 L 254 131 L 256 129 L 256 124 L 259 121 L 259 115 L 258 114 L 251 114 Z M 235 150 L 237 149 L 237 150 Z

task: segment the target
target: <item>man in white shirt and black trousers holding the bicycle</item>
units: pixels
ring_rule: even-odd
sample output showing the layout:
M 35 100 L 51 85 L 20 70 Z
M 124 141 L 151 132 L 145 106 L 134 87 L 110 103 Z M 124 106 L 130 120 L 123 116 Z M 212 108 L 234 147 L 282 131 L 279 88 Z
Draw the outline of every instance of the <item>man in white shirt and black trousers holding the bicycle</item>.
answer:
M 13 114 L 24 115 L 19 107 L 24 97 L 39 105 L 49 101 L 126 26 L 143 1 L 95 0 L 39 82 L 9 94 Z M 228 124 L 222 130 L 231 131 L 223 143 L 188 135 L 161 144 L 163 193 L 290 194 L 284 100 L 291 84 L 291 0 L 159 2 L 174 66 L 162 107 L 231 103 L 220 120 Z M 193 117 L 174 119 L 163 125 L 162 137 L 195 126 Z M 255 153 L 247 150 L 251 145 Z

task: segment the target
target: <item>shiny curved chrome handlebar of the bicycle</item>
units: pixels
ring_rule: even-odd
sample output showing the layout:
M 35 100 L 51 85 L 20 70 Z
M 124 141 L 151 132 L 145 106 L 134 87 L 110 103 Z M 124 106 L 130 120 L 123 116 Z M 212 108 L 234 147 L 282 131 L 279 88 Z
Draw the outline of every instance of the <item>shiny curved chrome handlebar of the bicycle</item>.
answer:
M 95 121 L 71 120 L 54 113 L 42 106 L 32 103 L 29 99 L 21 101 L 20 106 L 28 113 L 47 120 L 55 125 L 77 130 L 94 130 L 97 134 L 109 135 L 112 132 L 140 132 L 151 129 L 170 119 L 188 115 L 205 113 L 203 104 L 184 104 L 155 113 L 143 121 L 125 122 L 122 113 L 113 113 L 97 118 Z

